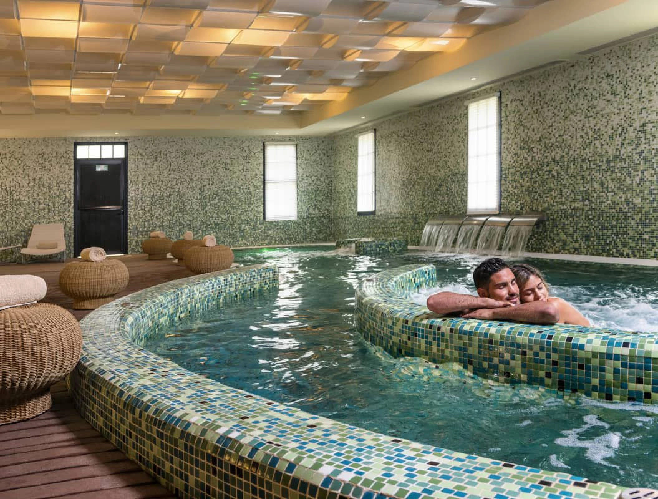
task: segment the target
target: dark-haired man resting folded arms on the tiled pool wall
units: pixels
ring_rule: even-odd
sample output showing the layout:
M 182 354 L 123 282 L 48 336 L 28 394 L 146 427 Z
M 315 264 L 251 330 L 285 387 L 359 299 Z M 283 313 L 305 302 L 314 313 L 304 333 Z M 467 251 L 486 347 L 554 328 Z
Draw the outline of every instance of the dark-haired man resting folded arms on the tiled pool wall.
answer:
M 519 286 L 507 263 L 490 258 L 473 271 L 478 296 L 442 291 L 427 299 L 427 307 L 441 315 L 459 315 L 465 319 L 516 321 L 530 324 L 555 324 L 559 312 L 547 302 L 520 303 Z

